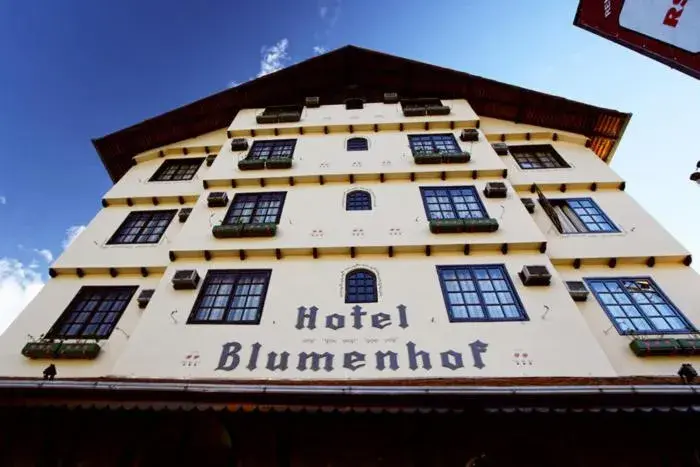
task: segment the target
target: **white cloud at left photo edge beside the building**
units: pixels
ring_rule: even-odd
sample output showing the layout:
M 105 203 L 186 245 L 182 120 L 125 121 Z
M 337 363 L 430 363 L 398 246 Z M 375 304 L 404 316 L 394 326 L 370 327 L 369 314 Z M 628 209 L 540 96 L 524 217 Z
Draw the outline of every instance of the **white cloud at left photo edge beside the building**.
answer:
M 44 286 L 41 273 L 13 258 L 0 258 L 0 334 Z

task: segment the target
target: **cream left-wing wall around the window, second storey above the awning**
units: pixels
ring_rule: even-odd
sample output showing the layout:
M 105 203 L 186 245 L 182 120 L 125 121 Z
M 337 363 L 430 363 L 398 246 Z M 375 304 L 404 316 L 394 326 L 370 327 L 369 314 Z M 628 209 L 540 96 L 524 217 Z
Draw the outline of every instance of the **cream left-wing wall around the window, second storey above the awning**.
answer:
M 179 210 L 191 205 L 159 204 L 135 205 L 132 207 L 110 206 L 101 209 L 95 218 L 53 264 L 54 268 L 90 267 L 154 267 L 168 263 L 168 251 L 179 235 L 182 225 L 177 217 L 165 230 L 158 243 L 142 245 L 108 245 L 107 242 L 117 231 L 130 212 Z

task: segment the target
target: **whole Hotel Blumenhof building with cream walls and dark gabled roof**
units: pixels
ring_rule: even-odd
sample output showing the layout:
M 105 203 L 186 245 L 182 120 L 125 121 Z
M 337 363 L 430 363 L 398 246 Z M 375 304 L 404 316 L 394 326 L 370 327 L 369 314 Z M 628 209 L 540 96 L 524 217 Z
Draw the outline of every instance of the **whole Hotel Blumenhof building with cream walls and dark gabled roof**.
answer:
M 630 117 L 348 46 L 95 140 L 0 337 L 3 465 L 700 465 Z

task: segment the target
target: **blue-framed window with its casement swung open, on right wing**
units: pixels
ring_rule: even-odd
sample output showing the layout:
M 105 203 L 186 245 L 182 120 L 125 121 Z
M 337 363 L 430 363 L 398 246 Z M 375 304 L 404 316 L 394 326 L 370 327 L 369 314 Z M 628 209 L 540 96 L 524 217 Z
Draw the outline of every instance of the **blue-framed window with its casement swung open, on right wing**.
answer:
M 591 198 L 550 199 L 561 233 L 613 233 L 620 230 Z

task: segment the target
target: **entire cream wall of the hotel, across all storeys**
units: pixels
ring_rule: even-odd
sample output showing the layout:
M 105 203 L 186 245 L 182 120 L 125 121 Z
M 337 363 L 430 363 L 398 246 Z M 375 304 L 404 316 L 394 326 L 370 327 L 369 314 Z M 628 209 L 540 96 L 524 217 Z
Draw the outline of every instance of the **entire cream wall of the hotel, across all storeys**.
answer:
M 470 125 L 476 120 L 471 107 L 465 101 L 445 101 L 452 106 L 452 113 L 445 117 L 430 117 L 431 122 L 462 121 Z M 230 130 L 274 128 L 274 125 L 257 125 L 255 115 L 261 109 L 244 110 L 238 114 Z M 421 121 L 418 117 L 406 118 L 400 107 L 386 104 L 368 104 L 365 109 L 347 111 L 344 106 L 323 106 L 320 109 L 305 109 L 302 121 L 278 125 L 279 128 L 314 125 L 360 125 L 364 123 L 392 123 Z M 70 248 L 56 261 L 54 267 L 62 270 L 59 277 L 49 280 L 38 297 L 26 308 L 20 317 L 0 338 L 0 374 L 6 376 L 39 376 L 47 361 L 30 361 L 21 356 L 20 351 L 30 339 L 45 333 L 58 319 L 70 300 L 82 285 L 123 285 L 136 284 L 141 287 L 156 287 L 156 294 L 145 311 L 137 308 L 135 298 L 119 322 L 119 328 L 103 342 L 103 353 L 92 362 L 57 361 L 59 377 L 163 377 L 163 378 L 222 378 L 222 379 L 351 379 L 386 377 L 472 377 L 472 376 L 613 376 L 633 374 L 662 374 L 675 372 L 680 362 L 678 358 L 635 357 L 627 348 L 628 339 L 614 331 L 605 334 L 610 321 L 592 297 L 585 304 L 576 304 L 568 296 L 562 279 L 574 280 L 592 275 L 651 275 L 664 293 L 691 319 L 700 322 L 700 313 L 695 287 L 698 276 L 680 265 L 663 266 L 664 256 L 685 255 L 683 249 L 663 228 L 624 192 L 599 189 L 597 192 L 568 190 L 566 193 L 547 191 L 548 197 L 591 197 L 605 213 L 618 225 L 622 232 L 610 235 L 571 235 L 557 234 L 551 222 L 538 205 L 534 215 L 526 212 L 520 197 L 535 198 L 529 191 L 516 192 L 511 183 L 527 186 L 535 183 L 590 183 L 620 181 L 608 166 L 598 160 L 590 150 L 585 149 L 585 138 L 559 132 L 561 138 L 552 143 L 561 155 L 572 165 L 572 169 L 547 171 L 524 171 L 519 169 L 512 157 L 499 157 L 491 149 L 484 135 L 500 133 L 538 133 L 549 130 L 539 127 L 514 124 L 495 119 L 481 119 L 481 140 L 478 143 L 461 143 L 463 149 L 472 153 L 472 161 L 467 164 L 418 166 L 415 165 L 409 150 L 407 134 L 420 134 L 423 131 L 389 131 L 378 133 L 310 133 L 290 136 L 297 139 L 294 154 L 294 167 L 290 170 L 265 170 L 241 172 L 237 169 L 238 158 L 245 153 L 231 153 L 230 139 L 224 130 L 212 132 L 198 138 L 174 143 L 164 150 L 173 148 L 222 146 L 212 167 L 205 164 L 199 169 L 195 179 L 184 182 L 148 182 L 160 164 L 176 157 L 202 157 L 201 154 L 167 155 L 164 158 L 145 160 L 149 154 L 139 155 L 139 163 L 105 195 L 110 200 L 120 200 L 122 204 L 102 209 L 89 224 L 87 230 L 78 237 Z M 339 131 L 339 130 L 334 130 Z M 430 132 L 444 133 L 449 130 L 431 129 Z M 453 133 L 458 136 L 459 130 Z M 367 152 L 346 152 L 345 141 L 351 136 L 367 136 L 370 150 Z M 287 138 L 279 136 L 278 138 Z M 252 144 L 257 139 L 274 139 L 274 136 L 248 137 Z M 540 136 L 531 143 L 544 143 Z M 517 138 L 516 138 L 517 139 Z M 550 140 L 547 140 L 551 142 Z M 527 144 L 515 140 L 511 144 Z M 158 152 L 159 149 L 154 150 Z M 152 151 L 153 152 L 153 151 Z M 328 167 L 321 167 L 322 163 Z M 359 164 L 358 164 L 359 162 Z M 508 168 L 507 199 L 487 199 L 480 194 L 486 209 L 492 217 L 499 219 L 501 228 L 491 234 L 443 234 L 433 235 L 428 230 L 426 215 L 420 197 L 420 186 L 475 185 L 481 193 L 487 181 L 500 178 L 472 180 L 471 170 L 491 171 L 496 176 Z M 422 180 L 422 171 L 445 171 L 446 181 L 438 178 Z M 416 172 L 416 182 L 391 180 L 393 172 Z M 301 177 L 306 175 L 357 174 L 357 183 L 299 182 L 265 188 L 258 186 L 205 190 L 203 181 L 244 180 L 260 177 Z M 361 174 L 385 173 L 387 181 L 363 181 Z M 376 177 L 375 177 L 376 178 Z M 374 209 L 371 212 L 346 212 L 343 209 L 344 194 L 354 188 L 364 188 L 371 192 Z M 217 240 L 211 234 L 211 227 L 223 218 L 226 208 L 210 209 L 206 205 L 206 195 L 211 191 L 226 191 L 233 199 L 235 193 L 259 191 L 287 191 L 287 199 L 282 213 L 279 234 L 272 239 L 227 239 Z M 128 197 L 150 198 L 188 197 L 194 210 L 187 223 L 181 225 L 174 218 L 166 236 L 157 245 L 149 246 L 104 246 L 117 227 L 132 210 L 179 208 L 179 204 L 163 203 L 159 206 L 137 204 L 127 207 L 123 204 Z M 194 200 L 197 198 L 196 203 Z M 400 235 L 396 230 L 400 229 Z M 315 235 L 311 235 L 313 231 Z M 362 231 L 362 235 L 358 232 Z M 319 231 L 322 235 L 318 235 Z M 284 257 L 281 260 L 255 259 L 255 251 L 268 248 L 311 248 L 324 246 L 401 246 L 401 245 L 440 245 L 519 242 L 540 242 L 546 240 L 546 255 L 514 253 L 508 255 L 480 253 L 456 256 L 450 253 L 433 251 L 432 256 L 398 252 L 394 258 L 385 254 L 363 255 L 355 259 L 345 256 L 324 254 L 319 259 L 304 257 Z M 204 262 L 178 259 L 172 263 L 167 252 L 182 250 L 210 250 L 216 253 L 223 249 L 246 249 L 246 261 L 215 258 Z M 399 251 L 397 249 L 397 251 Z M 618 266 L 616 269 L 595 269 L 584 262 L 580 270 L 563 268 L 560 273 L 549 263 L 549 257 L 556 260 L 573 258 L 608 257 L 647 257 L 656 256 L 659 265 L 655 268 Z M 191 262 L 187 262 L 191 261 Z M 435 272 L 437 264 L 486 264 L 505 263 L 512 281 L 530 317 L 527 322 L 491 323 L 449 323 L 440 285 Z M 516 273 L 524 264 L 547 264 L 553 273 L 552 286 L 526 288 L 522 286 Z M 380 302 L 363 304 L 362 308 L 371 313 L 388 313 L 394 324 L 384 330 L 345 328 L 333 331 L 323 327 L 328 314 L 342 313 L 350 320 L 348 313 L 352 306 L 345 304 L 342 294 L 342 274 L 344 271 L 365 265 L 379 273 L 381 281 Z M 151 275 L 148 278 L 120 274 L 117 278 L 108 275 L 90 275 L 79 279 L 71 275 L 71 268 L 109 267 L 167 267 L 162 280 Z M 260 325 L 186 325 L 197 292 L 174 291 L 170 279 L 178 269 L 196 268 L 202 277 L 207 269 L 213 268 L 270 268 L 272 280 L 268 291 Z M 200 285 L 201 288 L 201 285 Z M 138 291 L 137 293 L 138 294 Z M 319 307 L 318 326 L 315 331 L 296 330 L 296 313 L 299 306 Z M 409 327 L 402 329 L 395 325 L 398 305 L 407 307 Z M 547 311 L 548 310 L 548 311 Z M 175 312 L 175 313 L 173 313 Z M 365 317 L 369 322 L 369 316 Z M 128 336 L 128 338 L 127 338 Z M 486 367 L 479 370 L 472 365 L 469 343 L 480 340 L 488 344 L 483 355 Z M 249 346 L 254 342 L 263 345 L 258 370 L 248 371 L 248 347 L 243 350 L 244 362 L 235 371 L 216 371 L 222 345 L 227 342 L 240 342 Z M 411 371 L 406 367 L 406 343 L 412 341 L 421 350 L 431 353 L 433 369 Z M 455 350 L 462 353 L 465 367 L 449 370 L 440 365 L 440 352 Z M 290 369 L 279 375 L 264 369 L 264 359 L 268 351 L 286 350 L 290 357 Z M 300 372 L 296 370 L 296 354 L 300 351 L 330 351 L 336 355 L 335 370 L 326 372 Z M 342 354 L 348 351 L 367 353 L 367 366 L 352 372 L 343 369 Z M 377 350 L 395 350 L 399 354 L 401 369 L 389 373 L 373 369 L 373 354 Z M 519 357 L 514 357 L 518 354 Z M 523 358 L 522 355 L 528 357 Z M 198 355 L 196 366 L 186 364 L 194 361 L 186 356 Z M 696 358 L 685 360 L 694 361 Z M 524 360 L 524 364 L 523 364 Z M 530 364 L 532 363 L 532 364 Z

